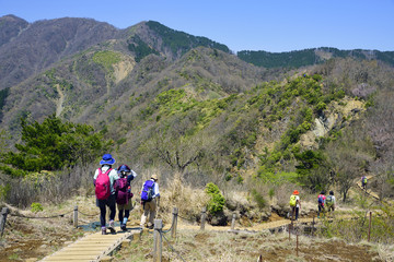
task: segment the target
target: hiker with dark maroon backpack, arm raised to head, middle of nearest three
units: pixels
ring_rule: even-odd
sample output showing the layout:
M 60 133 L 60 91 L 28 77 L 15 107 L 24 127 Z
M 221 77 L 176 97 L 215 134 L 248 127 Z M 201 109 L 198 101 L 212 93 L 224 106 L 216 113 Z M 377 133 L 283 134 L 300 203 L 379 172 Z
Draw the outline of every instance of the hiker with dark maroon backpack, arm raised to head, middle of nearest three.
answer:
M 118 217 L 120 222 L 120 229 L 127 231 L 126 224 L 130 215 L 131 206 L 131 186 L 130 181 L 137 177 L 137 172 L 131 170 L 127 165 L 121 165 L 117 168 L 119 179 L 115 181 L 116 204 L 118 210 Z M 125 213 L 125 214 L 124 214 Z

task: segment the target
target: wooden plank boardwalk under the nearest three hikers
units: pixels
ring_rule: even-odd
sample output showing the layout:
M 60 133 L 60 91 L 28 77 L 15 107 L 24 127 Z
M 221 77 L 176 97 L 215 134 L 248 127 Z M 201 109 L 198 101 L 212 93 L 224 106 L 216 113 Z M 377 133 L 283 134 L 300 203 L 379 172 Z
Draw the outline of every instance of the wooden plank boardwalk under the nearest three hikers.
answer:
M 44 258 L 42 261 L 101 261 L 137 233 L 139 230 L 117 231 L 113 235 L 102 235 L 101 231 L 94 233 Z

